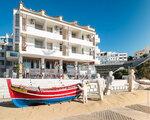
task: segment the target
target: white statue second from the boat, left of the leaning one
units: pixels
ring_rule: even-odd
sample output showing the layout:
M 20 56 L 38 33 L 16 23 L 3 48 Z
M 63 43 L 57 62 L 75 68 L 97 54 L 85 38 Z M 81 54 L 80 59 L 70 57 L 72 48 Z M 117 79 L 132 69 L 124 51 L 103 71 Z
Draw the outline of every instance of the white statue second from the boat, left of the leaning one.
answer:
M 103 100 L 103 92 L 104 92 L 105 80 L 101 78 L 100 74 L 97 73 L 97 87 L 98 87 L 98 94 L 100 100 Z

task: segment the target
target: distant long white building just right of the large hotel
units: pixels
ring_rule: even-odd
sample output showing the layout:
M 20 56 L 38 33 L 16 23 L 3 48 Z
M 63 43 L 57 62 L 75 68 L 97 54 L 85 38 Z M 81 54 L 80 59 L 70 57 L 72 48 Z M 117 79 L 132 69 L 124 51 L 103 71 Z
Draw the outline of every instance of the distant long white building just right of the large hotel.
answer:
M 100 52 L 97 55 L 97 58 L 100 64 L 115 64 L 115 63 L 123 63 L 127 61 L 128 54 L 127 53 L 117 53 L 117 52 Z

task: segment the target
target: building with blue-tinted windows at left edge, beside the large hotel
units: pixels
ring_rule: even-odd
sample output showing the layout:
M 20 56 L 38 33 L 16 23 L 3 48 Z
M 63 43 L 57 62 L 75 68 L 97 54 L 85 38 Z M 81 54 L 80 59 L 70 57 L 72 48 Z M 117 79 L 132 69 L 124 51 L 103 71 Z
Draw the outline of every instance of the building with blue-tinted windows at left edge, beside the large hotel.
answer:
M 18 52 L 13 51 L 13 35 L 0 36 L 0 77 L 9 77 L 13 66 L 18 60 Z

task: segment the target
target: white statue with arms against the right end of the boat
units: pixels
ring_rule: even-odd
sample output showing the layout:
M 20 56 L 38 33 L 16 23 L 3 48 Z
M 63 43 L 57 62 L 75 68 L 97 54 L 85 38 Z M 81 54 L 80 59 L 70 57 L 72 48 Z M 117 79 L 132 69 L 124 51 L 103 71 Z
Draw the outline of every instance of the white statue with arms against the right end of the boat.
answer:
M 88 87 L 87 87 L 87 82 L 83 81 L 81 85 L 78 85 L 79 89 L 82 91 L 82 98 L 83 98 L 83 103 L 88 102 Z

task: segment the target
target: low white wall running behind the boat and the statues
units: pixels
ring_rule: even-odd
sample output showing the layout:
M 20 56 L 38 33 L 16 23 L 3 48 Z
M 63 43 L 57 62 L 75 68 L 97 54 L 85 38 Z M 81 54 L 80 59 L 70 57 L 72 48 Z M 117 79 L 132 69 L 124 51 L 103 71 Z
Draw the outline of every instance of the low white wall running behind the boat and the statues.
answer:
M 81 80 L 60 80 L 60 79 L 12 79 L 12 84 L 34 86 L 40 88 L 50 88 L 62 85 L 81 83 Z M 127 90 L 127 80 L 114 80 L 112 83 L 113 90 Z M 90 83 L 88 88 L 90 93 L 97 93 L 97 83 Z M 5 78 L 0 78 L 0 98 L 10 98 Z

